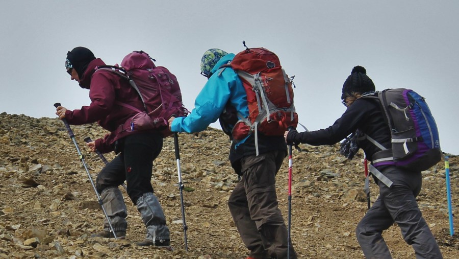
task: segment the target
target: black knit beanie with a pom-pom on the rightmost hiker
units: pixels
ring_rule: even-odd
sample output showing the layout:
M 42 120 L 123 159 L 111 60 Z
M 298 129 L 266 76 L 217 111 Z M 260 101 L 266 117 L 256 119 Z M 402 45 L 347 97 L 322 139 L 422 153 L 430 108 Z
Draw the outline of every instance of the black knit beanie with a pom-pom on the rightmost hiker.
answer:
M 346 98 L 346 95 L 351 95 L 351 92 L 371 92 L 375 91 L 373 81 L 367 76 L 367 70 L 363 66 L 354 66 L 350 76 L 347 77 L 343 84 L 343 94 L 341 100 Z

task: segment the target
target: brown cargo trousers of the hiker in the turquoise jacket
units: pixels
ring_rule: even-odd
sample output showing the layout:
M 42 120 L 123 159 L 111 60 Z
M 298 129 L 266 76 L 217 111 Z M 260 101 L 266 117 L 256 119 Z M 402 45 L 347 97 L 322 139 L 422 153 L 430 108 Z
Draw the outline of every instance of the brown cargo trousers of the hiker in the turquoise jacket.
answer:
M 228 200 L 239 234 L 254 258 L 287 258 L 288 231 L 278 208 L 275 176 L 285 158 L 272 151 L 241 159 L 242 177 Z M 290 258 L 296 258 L 291 247 Z

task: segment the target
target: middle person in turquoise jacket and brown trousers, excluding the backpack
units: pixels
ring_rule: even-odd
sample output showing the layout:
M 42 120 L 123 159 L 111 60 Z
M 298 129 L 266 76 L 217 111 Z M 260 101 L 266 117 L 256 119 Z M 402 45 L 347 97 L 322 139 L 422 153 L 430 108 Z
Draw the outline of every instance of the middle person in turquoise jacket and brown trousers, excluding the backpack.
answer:
M 227 120 L 232 117 L 231 113 L 224 111 L 233 110 L 233 115 L 248 116 L 247 95 L 241 79 L 232 68 L 220 68 L 234 57 L 235 54 L 220 49 L 204 53 L 201 74 L 208 81 L 187 117 L 171 117 L 169 127 L 172 132 L 199 132 L 219 119 L 228 134 L 234 124 Z M 288 231 L 278 208 L 275 189 L 275 176 L 287 155 L 287 146 L 282 134 L 269 137 L 259 134 L 258 149 L 257 156 L 253 134 L 238 144 L 232 142 L 229 159 L 241 180 L 236 184 L 228 206 L 239 234 L 250 250 L 247 258 L 287 258 Z M 290 258 L 296 258 L 293 248 Z

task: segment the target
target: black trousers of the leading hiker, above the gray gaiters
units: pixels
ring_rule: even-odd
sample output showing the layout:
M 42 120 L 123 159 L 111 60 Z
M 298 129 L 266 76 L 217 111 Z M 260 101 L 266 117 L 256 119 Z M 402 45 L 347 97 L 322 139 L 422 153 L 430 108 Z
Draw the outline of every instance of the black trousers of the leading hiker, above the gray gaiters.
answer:
M 136 204 L 145 193 L 152 193 L 153 160 L 163 148 L 163 137 L 157 133 L 139 133 L 126 136 L 119 142 L 121 152 L 97 176 L 97 192 L 109 186 L 118 186 L 126 180 L 127 194 Z

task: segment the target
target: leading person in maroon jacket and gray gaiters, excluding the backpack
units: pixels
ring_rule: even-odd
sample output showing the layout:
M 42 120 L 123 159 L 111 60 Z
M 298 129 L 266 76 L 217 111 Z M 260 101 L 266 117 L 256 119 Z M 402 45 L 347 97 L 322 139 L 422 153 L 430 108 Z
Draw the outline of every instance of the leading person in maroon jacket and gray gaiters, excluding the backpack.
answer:
M 107 209 L 107 215 L 118 238 L 124 239 L 127 229 L 127 210 L 118 186 L 127 183 L 127 194 L 137 205 L 146 226 L 145 240 L 139 246 L 170 247 L 169 228 L 158 198 L 151 186 L 152 163 L 163 147 L 163 137 L 154 130 L 119 131 L 118 128 L 137 112 L 117 105 L 129 103 L 140 110 L 143 103 L 137 92 L 124 80 L 108 70 L 99 69 L 105 65 L 100 58 L 84 47 L 74 48 L 67 53 L 65 68 L 71 80 L 82 88 L 89 89 L 91 104 L 81 109 L 67 110 L 58 106 L 56 114 L 69 124 L 81 125 L 97 122 L 110 131 L 104 138 L 87 143 L 91 151 L 101 153 L 115 151 L 117 156 L 97 175 L 96 187 Z M 108 221 L 104 230 L 91 237 L 114 238 Z

